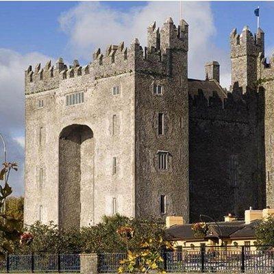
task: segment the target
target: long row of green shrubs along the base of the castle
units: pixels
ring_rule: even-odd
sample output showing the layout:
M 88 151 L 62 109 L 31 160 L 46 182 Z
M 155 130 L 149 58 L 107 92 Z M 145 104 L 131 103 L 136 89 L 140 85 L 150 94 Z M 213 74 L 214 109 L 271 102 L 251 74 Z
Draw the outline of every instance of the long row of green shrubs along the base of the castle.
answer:
M 123 227 L 133 232 L 130 239 L 119 233 Z M 95 226 L 67 231 L 59 231 L 53 223 L 43 225 L 36 222 L 27 227 L 27 232 L 33 240 L 21 245 L 18 243 L 17 253 L 114 253 L 128 249 L 136 251 L 145 239 L 162 237 L 164 223 L 153 219 L 129 219 L 116 214 L 103 216 L 101 223 Z

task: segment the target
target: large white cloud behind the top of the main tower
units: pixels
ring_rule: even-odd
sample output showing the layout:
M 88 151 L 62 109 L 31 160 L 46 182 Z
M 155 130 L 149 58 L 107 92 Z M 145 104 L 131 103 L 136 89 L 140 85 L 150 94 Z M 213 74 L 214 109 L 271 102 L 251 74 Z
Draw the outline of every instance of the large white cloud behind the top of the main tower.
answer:
M 220 59 L 222 71 L 227 75 L 229 53 L 216 49 L 211 42 L 216 29 L 210 3 L 184 1 L 183 5 L 184 18 L 190 29 L 189 76 L 203 79 L 204 64 Z M 84 2 L 64 12 L 59 21 L 61 29 L 69 35 L 73 58 L 90 60 L 95 48 L 101 47 L 104 51 L 107 45 L 117 45 L 121 40 L 129 45 L 137 37 L 142 46 L 146 45 L 150 23 L 156 21 L 161 27 L 169 16 L 175 23 L 179 22 L 179 1 L 151 1 L 142 8 L 132 8 L 127 12 L 114 10 L 102 3 Z

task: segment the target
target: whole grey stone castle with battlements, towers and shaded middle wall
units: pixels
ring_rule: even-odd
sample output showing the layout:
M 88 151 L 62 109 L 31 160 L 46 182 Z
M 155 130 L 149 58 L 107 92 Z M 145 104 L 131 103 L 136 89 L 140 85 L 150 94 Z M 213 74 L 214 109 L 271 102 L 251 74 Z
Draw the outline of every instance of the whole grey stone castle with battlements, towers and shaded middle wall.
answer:
M 274 58 L 264 32 L 230 35 L 219 63 L 188 78 L 188 24 L 147 29 L 147 47 L 97 49 L 25 71 L 25 223 L 94 225 L 103 214 L 223 219 L 274 206 Z

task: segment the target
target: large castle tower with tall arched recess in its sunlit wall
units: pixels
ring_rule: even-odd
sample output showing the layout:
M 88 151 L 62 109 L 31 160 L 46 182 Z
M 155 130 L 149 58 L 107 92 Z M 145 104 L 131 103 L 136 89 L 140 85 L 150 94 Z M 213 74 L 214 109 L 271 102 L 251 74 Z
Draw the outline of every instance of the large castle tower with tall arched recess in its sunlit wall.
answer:
M 93 60 L 25 71 L 25 223 L 188 221 L 188 25 L 169 18 Z

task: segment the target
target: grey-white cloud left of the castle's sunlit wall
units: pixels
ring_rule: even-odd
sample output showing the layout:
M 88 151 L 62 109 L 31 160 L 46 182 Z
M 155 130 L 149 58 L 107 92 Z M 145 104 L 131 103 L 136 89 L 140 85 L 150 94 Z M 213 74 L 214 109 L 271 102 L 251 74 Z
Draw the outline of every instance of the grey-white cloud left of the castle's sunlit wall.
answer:
M 10 49 L 0 49 L 0 131 L 7 142 L 8 161 L 18 162 L 18 172 L 10 175 L 14 195 L 23 194 L 24 168 L 24 71 L 29 64 L 48 58 L 32 52 L 21 55 Z M 0 161 L 3 162 L 2 144 Z

